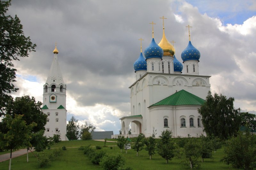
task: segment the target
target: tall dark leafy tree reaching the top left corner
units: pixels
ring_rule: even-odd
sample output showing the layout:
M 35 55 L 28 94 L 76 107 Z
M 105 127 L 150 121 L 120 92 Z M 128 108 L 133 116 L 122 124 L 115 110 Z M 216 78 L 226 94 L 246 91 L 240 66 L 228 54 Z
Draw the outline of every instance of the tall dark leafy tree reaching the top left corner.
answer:
M 6 15 L 11 1 L 0 1 L 0 115 L 12 97 L 11 92 L 17 92 L 13 82 L 16 78 L 16 69 L 13 68 L 13 60 L 20 57 L 28 57 L 31 51 L 35 51 L 36 44 L 30 41 L 22 31 L 20 19 Z

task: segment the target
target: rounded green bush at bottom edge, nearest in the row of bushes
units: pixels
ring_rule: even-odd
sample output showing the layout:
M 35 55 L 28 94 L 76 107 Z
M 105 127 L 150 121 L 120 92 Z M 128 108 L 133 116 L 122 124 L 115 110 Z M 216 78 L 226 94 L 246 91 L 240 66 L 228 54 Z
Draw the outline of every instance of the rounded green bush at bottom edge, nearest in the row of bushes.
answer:
M 106 155 L 100 160 L 100 166 L 105 170 L 117 170 L 124 166 L 124 156 L 122 155 Z

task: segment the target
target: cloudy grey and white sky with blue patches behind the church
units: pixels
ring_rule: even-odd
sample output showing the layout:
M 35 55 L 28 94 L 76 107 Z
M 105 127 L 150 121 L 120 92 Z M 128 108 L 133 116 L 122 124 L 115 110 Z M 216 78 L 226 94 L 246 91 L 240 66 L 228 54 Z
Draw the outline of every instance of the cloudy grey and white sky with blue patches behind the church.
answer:
M 209 75 L 211 91 L 235 98 L 235 107 L 256 113 L 256 1 L 254 0 L 12 0 L 8 14 L 17 16 L 36 52 L 14 62 L 20 90 L 43 99 L 55 42 L 65 84 L 67 120 L 72 115 L 97 131 L 121 128 L 130 115 L 133 63 L 150 44 L 154 21 L 157 43 L 165 34 L 176 58 L 191 42 L 200 51 L 199 74 Z

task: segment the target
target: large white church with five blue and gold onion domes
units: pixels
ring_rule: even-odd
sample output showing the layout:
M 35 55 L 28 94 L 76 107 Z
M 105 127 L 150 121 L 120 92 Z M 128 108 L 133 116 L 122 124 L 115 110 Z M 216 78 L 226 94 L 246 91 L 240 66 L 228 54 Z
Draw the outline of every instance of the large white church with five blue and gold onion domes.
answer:
M 130 123 L 131 137 L 139 133 L 151 136 L 153 128 L 156 137 L 165 129 L 172 130 L 173 137 L 201 135 L 202 117 L 197 109 L 210 91 L 211 76 L 199 75 L 200 52 L 192 45 L 189 33 L 188 46 L 181 53 L 182 64 L 165 37 L 164 26 L 158 45 L 154 31 L 152 34 L 152 41 L 144 51 L 145 57 L 141 49 L 133 64 L 136 81 L 129 87 L 131 115 L 120 118 L 122 135 L 128 134 Z

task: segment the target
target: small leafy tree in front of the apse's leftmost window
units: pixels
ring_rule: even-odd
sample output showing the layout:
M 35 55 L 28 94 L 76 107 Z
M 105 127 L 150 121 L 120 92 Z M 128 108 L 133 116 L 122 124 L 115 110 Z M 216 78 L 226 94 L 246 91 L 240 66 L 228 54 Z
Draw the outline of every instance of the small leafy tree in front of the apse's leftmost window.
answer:
M 158 154 L 166 160 L 166 163 L 168 163 L 168 160 L 172 160 L 174 157 L 175 150 L 174 142 L 171 141 L 172 131 L 168 129 L 162 131 L 159 138 L 160 140 L 157 144 Z

